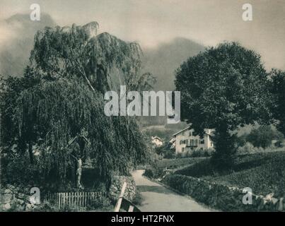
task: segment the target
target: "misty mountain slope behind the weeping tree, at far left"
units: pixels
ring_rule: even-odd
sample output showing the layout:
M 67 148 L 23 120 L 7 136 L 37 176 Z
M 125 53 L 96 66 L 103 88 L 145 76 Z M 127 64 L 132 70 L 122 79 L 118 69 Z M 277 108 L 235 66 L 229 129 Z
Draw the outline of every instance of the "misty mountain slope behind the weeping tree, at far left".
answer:
M 50 15 L 42 13 L 40 21 L 30 20 L 30 14 L 16 14 L 1 21 L 1 26 L 11 35 L 0 48 L 0 74 L 22 76 L 33 49 L 37 30 L 56 24 Z

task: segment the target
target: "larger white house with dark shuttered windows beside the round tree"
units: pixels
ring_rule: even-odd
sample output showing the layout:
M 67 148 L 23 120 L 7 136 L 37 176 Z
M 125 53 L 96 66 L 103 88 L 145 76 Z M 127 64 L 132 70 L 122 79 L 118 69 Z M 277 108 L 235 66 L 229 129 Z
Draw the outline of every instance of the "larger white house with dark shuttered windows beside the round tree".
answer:
M 214 143 L 211 140 L 212 130 L 205 129 L 204 131 L 205 134 L 203 138 L 200 138 L 199 135 L 194 136 L 194 130 L 190 129 L 190 126 L 173 134 L 173 138 L 175 138 L 175 153 L 178 154 L 186 151 L 208 150 L 214 148 Z

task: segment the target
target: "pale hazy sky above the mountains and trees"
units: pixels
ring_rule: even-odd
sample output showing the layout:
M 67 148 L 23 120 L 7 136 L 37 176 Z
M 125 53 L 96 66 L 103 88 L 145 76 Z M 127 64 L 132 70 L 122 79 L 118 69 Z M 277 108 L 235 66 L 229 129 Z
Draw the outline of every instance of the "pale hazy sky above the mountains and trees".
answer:
M 175 37 L 205 46 L 238 41 L 260 53 L 268 69 L 285 69 L 285 0 L 0 0 L 0 21 L 30 13 L 35 3 L 58 25 L 97 21 L 100 32 L 145 49 Z M 252 4 L 252 21 L 242 19 L 246 3 Z M 0 41 L 9 32 L 0 26 Z

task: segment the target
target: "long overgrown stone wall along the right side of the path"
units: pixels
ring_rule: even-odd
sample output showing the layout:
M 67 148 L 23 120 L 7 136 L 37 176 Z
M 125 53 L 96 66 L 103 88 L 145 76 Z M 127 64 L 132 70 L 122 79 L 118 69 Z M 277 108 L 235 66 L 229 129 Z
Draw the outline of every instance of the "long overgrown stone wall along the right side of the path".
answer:
M 180 174 L 168 174 L 163 183 L 187 194 L 195 200 L 223 211 L 285 211 L 283 198 L 274 194 L 258 196 L 252 194 L 252 204 L 243 204 L 243 189 L 226 186 L 203 179 Z

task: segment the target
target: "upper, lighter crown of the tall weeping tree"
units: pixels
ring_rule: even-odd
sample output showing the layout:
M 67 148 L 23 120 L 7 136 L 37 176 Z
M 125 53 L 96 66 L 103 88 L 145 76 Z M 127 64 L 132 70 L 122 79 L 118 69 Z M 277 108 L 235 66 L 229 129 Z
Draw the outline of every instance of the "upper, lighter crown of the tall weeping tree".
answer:
M 106 32 L 97 35 L 98 23 L 71 28 L 45 28 L 35 35 L 30 62 L 45 78 L 76 75 L 91 90 L 151 88 L 153 77 L 141 73 L 141 48 Z M 116 82 L 117 81 L 117 82 Z

